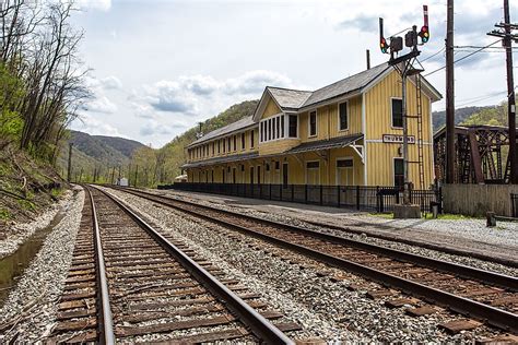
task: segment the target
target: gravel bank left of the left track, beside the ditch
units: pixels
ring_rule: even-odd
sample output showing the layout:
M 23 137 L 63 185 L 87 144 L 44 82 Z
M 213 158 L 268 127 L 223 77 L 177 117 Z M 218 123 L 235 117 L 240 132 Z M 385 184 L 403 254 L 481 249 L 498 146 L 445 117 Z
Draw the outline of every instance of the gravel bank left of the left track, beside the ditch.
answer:
M 55 325 L 56 302 L 67 278 L 81 222 L 84 192 L 63 203 L 64 217 L 51 230 L 0 309 L 0 343 L 35 343 Z

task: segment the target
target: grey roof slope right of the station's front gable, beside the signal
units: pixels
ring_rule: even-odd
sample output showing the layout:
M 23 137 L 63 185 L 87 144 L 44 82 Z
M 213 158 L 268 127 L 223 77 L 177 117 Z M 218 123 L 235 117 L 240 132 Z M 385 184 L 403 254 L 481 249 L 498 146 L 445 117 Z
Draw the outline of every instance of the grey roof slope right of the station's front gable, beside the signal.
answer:
M 301 108 L 313 106 L 323 100 L 360 91 L 388 69 L 391 69 L 391 67 L 385 62 L 373 67 L 372 69 L 342 79 L 341 81 L 332 83 L 331 85 L 314 91 L 306 102 L 301 106 Z

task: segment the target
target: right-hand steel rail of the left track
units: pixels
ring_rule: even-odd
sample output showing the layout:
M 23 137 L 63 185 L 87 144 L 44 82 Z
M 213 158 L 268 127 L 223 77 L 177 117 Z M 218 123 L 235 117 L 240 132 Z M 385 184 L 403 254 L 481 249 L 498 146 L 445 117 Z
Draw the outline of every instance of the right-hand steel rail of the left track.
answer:
M 149 225 L 144 219 L 131 211 L 119 198 L 96 188 L 114 201 L 123 212 L 126 212 L 136 223 L 138 223 L 153 239 L 156 240 L 168 253 L 195 276 L 195 278 L 204 285 L 220 300 L 223 300 L 226 307 L 237 316 L 237 318 L 251 330 L 251 333 L 267 344 L 290 344 L 295 343 L 283 332 L 275 328 L 270 321 L 246 304 L 239 296 L 234 294 L 228 287 L 222 284 L 217 278 L 189 258 L 178 247 L 173 245 L 162 234 Z

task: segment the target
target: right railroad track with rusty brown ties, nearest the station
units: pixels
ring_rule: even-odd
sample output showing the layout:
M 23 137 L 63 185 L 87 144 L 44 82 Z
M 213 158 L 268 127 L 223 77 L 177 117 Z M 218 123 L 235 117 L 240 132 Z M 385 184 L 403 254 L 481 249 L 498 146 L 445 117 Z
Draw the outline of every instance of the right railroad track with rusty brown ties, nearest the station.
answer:
M 344 239 L 186 200 L 133 189 L 119 190 L 291 249 L 504 331 L 518 333 L 517 277 Z M 384 294 L 390 293 L 388 290 L 378 293 L 379 296 Z M 409 304 L 412 305 L 411 299 L 402 299 L 396 305 Z M 422 307 L 413 308 L 409 312 L 421 316 L 432 313 L 434 310 Z M 466 320 L 444 326 L 455 332 L 472 329 L 474 325 L 471 320 Z

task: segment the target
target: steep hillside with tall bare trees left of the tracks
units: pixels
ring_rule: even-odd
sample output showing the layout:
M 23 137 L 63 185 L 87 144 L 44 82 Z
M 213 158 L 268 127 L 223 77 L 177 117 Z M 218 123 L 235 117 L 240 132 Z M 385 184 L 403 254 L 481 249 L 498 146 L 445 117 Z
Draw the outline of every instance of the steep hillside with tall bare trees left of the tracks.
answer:
M 73 3 L 1 2 L 0 225 L 32 217 L 56 199 L 61 142 L 91 97 Z

